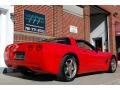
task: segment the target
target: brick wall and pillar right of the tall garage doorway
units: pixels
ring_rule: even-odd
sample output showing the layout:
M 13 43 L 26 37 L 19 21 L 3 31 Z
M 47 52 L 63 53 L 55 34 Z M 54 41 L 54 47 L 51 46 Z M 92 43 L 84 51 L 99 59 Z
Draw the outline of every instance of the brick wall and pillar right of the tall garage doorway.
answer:
M 120 22 L 120 6 L 119 5 L 99 5 L 100 8 L 106 10 L 108 15 L 109 24 L 109 51 L 116 54 L 116 22 Z

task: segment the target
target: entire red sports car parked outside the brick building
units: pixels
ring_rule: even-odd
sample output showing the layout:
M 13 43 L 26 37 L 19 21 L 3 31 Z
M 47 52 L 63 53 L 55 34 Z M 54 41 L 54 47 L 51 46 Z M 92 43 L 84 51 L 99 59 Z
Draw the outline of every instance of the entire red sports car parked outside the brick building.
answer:
M 77 74 L 115 72 L 117 59 L 108 52 L 100 52 L 84 40 L 56 38 L 42 42 L 24 42 L 8 45 L 5 63 L 24 75 L 43 72 L 55 74 L 60 80 L 74 80 Z

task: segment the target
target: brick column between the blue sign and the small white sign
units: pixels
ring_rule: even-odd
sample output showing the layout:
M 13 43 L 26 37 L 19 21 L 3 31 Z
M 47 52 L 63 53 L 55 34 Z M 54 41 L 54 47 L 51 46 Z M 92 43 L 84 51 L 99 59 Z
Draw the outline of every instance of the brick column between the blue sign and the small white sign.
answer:
M 62 14 L 63 14 L 63 7 L 61 5 L 54 5 L 53 6 L 53 36 L 55 37 L 62 37 L 63 30 L 62 30 Z

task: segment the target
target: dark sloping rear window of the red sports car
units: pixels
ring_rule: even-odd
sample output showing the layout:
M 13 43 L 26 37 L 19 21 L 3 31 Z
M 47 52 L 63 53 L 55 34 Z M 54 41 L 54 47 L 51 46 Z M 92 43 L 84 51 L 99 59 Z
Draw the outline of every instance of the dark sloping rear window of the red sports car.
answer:
M 52 39 L 43 39 L 41 42 L 55 42 L 55 43 L 61 43 L 61 44 L 68 44 L 70 45 L 69 38 L 52 38 Z

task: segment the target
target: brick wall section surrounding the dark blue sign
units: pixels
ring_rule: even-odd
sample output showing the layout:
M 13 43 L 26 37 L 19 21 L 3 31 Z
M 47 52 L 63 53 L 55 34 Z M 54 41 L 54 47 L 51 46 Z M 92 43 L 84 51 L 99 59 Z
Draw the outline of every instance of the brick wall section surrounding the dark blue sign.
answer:
M 30 10 L 36 13 L 45 15 L 45 32 L 36 33 L 24 31 L 24 10 Z M 52 6 L 39 6 L 39 5 L 17 5 L 15 6 L 15 32 L 21 32 L 21 34 L 14 34 L 14 42 L 19 41 L 36 41 L 40 37 L 38 35 L 53 36 L 53 7 Z M 22 35 L 24 33 L 30 33 Z M 32 34 L 32 35 L 31 35 Z

